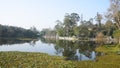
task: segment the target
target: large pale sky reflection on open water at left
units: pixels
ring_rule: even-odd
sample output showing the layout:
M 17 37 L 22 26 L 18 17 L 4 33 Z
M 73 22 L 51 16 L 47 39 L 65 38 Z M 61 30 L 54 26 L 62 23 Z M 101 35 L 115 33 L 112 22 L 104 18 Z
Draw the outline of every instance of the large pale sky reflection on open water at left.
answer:
M 43 44 L 40 41 L 36 42 L 34 46 L 29 43 L 2 45 L 0 46 L 0 51 L 42 52 L 50 55 L 55 55 L 56 52 L 53 44 Z

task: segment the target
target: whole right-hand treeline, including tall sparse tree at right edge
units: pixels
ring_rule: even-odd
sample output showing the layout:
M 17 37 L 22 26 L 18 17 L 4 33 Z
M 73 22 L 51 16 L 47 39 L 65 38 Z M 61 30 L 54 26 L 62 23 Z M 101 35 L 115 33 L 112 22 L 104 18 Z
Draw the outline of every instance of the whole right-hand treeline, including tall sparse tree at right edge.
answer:
M 83 15 L 66 13 L 63 22 L 57 20 L 56 23 L 52 30 L 43 29 L 41 36 L 112 37 L 116 30 L 120 30 L 120 0 L 110 0 L 110 7 L 104 15 L 97 13 L 95 17 L 84 20 Z

